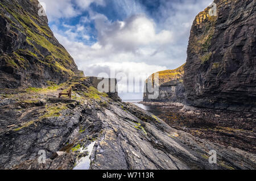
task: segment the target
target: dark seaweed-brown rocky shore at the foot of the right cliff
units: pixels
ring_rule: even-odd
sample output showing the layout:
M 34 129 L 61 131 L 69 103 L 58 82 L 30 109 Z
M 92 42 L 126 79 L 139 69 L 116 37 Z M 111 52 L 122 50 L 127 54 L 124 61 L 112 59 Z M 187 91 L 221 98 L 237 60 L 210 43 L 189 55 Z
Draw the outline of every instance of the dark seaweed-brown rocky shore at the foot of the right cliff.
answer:
M 143 102 L 142 102 L 143 103 Z M 175 129 L 229 148 L 256 153 L 256 115 L 250 112 L 223 111 L 180 103 L 143 103 Z

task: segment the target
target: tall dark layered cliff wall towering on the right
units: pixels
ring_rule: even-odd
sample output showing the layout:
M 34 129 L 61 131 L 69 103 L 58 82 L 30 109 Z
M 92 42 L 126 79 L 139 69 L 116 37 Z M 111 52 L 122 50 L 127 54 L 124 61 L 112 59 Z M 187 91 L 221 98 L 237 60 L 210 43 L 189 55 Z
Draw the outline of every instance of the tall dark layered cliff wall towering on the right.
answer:
M 256 111 L 256 2 L 214 1 L 196 16 L 184 67 L 186 102 L 194 106 Z

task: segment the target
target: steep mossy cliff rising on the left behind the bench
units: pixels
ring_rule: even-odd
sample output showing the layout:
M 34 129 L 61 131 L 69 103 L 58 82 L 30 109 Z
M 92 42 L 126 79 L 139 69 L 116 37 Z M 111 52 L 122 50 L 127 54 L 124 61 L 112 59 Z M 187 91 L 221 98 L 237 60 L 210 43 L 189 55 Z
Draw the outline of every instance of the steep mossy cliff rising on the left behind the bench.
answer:
M 82 74 L 53 36 L 46 16 L 38 15 L 38 4 L 37 0 L 0 2 L 0 88 L 38 87 Z

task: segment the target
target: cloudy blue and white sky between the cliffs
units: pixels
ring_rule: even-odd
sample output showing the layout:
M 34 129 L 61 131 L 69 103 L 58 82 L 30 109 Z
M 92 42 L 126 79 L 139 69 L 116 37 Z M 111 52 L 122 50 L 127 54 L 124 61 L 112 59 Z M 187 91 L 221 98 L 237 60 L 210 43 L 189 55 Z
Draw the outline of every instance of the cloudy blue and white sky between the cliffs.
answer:
M 46 5 L 55 37 L 85 75 L 118 78 L 121 98 L 142 99 L 150 74 L 185 63 L 192 22 L 213 0 L 39 2 Z

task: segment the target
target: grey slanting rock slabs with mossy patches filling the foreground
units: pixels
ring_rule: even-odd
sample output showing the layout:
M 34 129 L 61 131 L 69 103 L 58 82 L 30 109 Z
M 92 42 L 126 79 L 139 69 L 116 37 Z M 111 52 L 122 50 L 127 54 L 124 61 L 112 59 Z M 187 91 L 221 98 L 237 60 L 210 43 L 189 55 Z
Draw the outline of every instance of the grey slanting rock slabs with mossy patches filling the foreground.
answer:
M 80 148 L 93 141 L 89 169 L 255 169 L 255 154 L 179 131 L 152 113 L 100 92 L 92 95 L 86 78 L 67 85 L 77 90 L 72 91 L 77 104 L 72 109 L 67 107 L 71 100 L 62 98 L 60 103 L 30 103 L 17 110 L 24 95 L 49 99 L 58 91 L 1 94 L 1 102 L 15 97 L 0 107 L 1 169 L 72 169 L 81 158 Z M 46 164 L 38 162 L 40 150 L 46 151 Z M 209 150 L 217 151 L 217 164 L 209 163 Z

